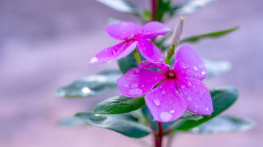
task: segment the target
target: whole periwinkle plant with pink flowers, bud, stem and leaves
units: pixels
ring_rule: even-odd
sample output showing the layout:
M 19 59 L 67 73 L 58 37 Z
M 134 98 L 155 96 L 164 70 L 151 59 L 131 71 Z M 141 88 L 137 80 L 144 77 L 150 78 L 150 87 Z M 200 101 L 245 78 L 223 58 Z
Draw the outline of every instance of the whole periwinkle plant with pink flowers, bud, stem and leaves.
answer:
M 223 61 L 222 65 L 221 61 L 206 59 L 205 63 L 193 48 L 183 45 L 215 39 L 238 27 L 181 39 L 184 17 L 180 17 L 174 32 L 163 24 L 176 14 L 194 12 L 212 1 L 152 0 L 152 10 L 143 10 L 129 0 L 97 1 L 120 12 L 134 14 L 144 25 L 118 21 L 120 23 L 105 26 L 107 34 L 120 43 L 100 50 L 89 63 L 118 60 L 120 70 L 84 77 L 59 88 L 56 94 L 71 98 L 95 97 L 111 95 L 110 91 L 118 88 L 122 95 L 101 101 L 89 112 L 78 112 L 62 124 L 89 124 L 133 138 L 153 135 L 155 147 L 163 146 L 163 141 L 167 141 L 167 146 L 174 146 L 172 138 L 183 132 L 227 133 L 253 128 L 253 121 L 247 119 L 218 117 L 237 100 L 235 88 L 208 90 L 203 83 L 206 77 L 230 70 L 225 68 L 228 62 Z M 188 25 L 187 28 L 191 24 Z M 196 24 L 192 25 L 199 29 Z

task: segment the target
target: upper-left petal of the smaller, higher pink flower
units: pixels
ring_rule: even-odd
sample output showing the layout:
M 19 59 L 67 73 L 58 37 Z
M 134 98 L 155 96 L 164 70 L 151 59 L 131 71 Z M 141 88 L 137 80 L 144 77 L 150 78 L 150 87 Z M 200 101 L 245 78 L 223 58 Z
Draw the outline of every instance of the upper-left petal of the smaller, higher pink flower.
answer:
M 137 35 L 141 28 L 136 23 L 122 22 L 108 24 L 105 30 L 114 39 L 130 39 Z

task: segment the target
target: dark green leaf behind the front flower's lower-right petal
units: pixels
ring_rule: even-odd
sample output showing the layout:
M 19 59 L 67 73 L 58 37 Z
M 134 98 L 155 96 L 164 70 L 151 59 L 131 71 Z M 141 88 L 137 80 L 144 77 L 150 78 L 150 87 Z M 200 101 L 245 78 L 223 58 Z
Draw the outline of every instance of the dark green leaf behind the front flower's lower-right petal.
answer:
M 210 116 L 203 116 L 203 119 L 199 120 L 181 120 L 176 124 L 176 130 L 187 131 L 194 127 L 197 127 L 204 122 L 216 117 L 224 110 L 232 106 L 238 97 L 238 91 L 235 88 L 221 88 L 210 91 L 212 97 L 212 104 L 214 112 Z

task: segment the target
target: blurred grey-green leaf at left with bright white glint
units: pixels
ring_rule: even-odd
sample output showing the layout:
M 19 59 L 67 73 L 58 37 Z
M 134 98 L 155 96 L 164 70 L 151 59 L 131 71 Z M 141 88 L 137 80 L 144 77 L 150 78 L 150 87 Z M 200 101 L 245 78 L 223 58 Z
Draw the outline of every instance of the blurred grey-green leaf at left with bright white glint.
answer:
M 105 94 L 117 87 L 116 80 L 122 74 L 117 70 L 101 72 L 73 81 L 58 88 L 55 94 L 59 97 L 91 97 Z

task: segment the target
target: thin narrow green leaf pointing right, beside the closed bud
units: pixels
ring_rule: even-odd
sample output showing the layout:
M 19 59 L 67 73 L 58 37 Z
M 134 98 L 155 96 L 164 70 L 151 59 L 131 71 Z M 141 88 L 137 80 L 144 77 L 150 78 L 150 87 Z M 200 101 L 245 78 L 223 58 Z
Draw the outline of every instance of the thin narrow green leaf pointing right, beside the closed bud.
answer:
M 226 30 L 219 30 L 219 31 L 216 31 L 216 32 L 208 32 L 208 33 L 203 34 L 203 35 L 196 35 L 196 36 L 192 36 L 192 37 L 188 37 L 188 38 L 182 39 L 180 41 L 180 43 L 185 43 L 185 42 L 194 43 L 194 42 L 197 42 L 197 41 L 201 41 L 201 39 L 222 37 L 224 35 L 228 35 L 228 33 L 233 32 L 233 31 L 235 31 L 237 29 L 239 29 L 239 26 L 233 27 L 233 28 L 229 28 L 229 29 L 226 29 Z

